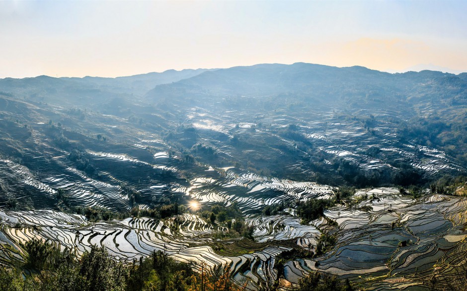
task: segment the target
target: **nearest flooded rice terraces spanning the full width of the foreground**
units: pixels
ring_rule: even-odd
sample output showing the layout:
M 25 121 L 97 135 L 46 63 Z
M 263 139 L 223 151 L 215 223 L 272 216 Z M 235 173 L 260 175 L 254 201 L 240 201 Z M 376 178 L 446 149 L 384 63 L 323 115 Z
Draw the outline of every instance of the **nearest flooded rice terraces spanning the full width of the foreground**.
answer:
M 415 203 L 397 189 L 381 188 L 359 191 L 355 199 L 360 202 L 351 208 L 337 206 L 325 212 L 338 227 L 325 219 L 301 225 L 292 215 L 250 217 L 247 223 L 254 226 L 257 242 L 222 242 L 224 255 L 213 249 L 220 244 L 210 234 L 228 230 L 193 214 L 89 223 L 82 216 L 51 210 L 0 211 L 1 261 L 21 261 L 20 243 L 32 237 L 54 241 L 78 255 L 92 244 L 104 246 L 124 261 L 160 249 L 177 260 L 206 262 L 212 268 L 230 265 L 235 280 L 248 278 L 249 288 L 256 289 L 277 279 L 278 254 L 295 247 L 312 249 L 319 235 L 327 232 L 337 236 L 332 250 L 320 257 L 290 259 L 284 264 L 285 280 L 297 283 L 315 270 L 349 278 L 366 290 L 411 290 L 433 276 L 435 265 L 435 274 L 442 274 L 449 272 L 453 261 L 461 260 L 459 249 L 466 248 L 467 237 L 465 198 L 433 195 Z M 226 253 L 233 250 L 236 255 Z

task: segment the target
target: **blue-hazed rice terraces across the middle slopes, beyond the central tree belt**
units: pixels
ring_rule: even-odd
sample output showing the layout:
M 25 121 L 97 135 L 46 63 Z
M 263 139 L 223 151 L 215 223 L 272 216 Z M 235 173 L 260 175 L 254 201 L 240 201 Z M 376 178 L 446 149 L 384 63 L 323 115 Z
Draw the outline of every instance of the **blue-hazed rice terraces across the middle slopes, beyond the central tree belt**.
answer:
M 0 183 L 6 193 L 0 197 L 0 206 L 5 207 L 9 198 L 16 198 L 22 209 L 57 209 L 54 191 L 64 188 L 73 206 L 129 210 L 133 205 L 122 192 L 122 183 L 141 194 L 141 207 L 150 207 L 153 199 L 158 197 L 185 194 L 204 203 L 237 201 L 245 211 L 287 199 L 328 197 L 330 187 L 317 189 L 321 186 L 302 181 L 313 180 L 316 174 L 310 160 L 317 159 L 322 165 L 330 162 L 314 157 L 311 151 L 302 152 L 294 140 L 273 133 L 289 124 L 296 125 L 297 132 L 312 144 L 313 151 L 322 151 L 331 158 L 341 158 L 363 172 L 390 173 L 394 170 L 391 165 L 366 153 L 372 146 L 378 146 L 388 158 L 410 163 L 422 170 L 424 176 L 464 170 L 442 151 L 401 142 L 394 136 L 396 124 L 385 118 L 400 119 L 408 113 L 395 113 L 389 109 L 372 110 L 377 126 L 374 128 L 376 133 L 369 133 L 360 121 L 343 118 L 337 107 L 326 110 L 310 108 L 310 111 L 291 116 L 284 110 L 266 115 L 255 112 L 254 108 L 249 109 L 251 112 L 219 111 L 215 106 L 223 105 L 206 102 L 203 108 L 174 107 L 175 116 L 186 116 L 182 124 L 195 128 L 193 140 L 188 141 L 185 137 L 180 143 L 187 143 L 188 147 L 195 144 L 211 147 L 216 155 L 228 161 L 249 160 L 255 165 L 274 170 L 276 176 L 282 176 L 281 179 L 271 178 L 271 175 L 268 175 L 269 178 L 254 175 L 238 169 L 238 166 L 232 168 L 234 165 L 216 168 L 209 163 L 187 162 L 181 153 L 169 154 L 173 148 L 160 133 L 133 127 L 119 116 L 97 113 L 89 114 L 89 120 L 80 122 L 89 128 L 95 128 L 100 122 L 106 124 L 104 132 L 113 136 L 114 140 L 103 142 L 83 132 L 63 132 L 71 144 L 79 145 L 84 151 L 98 176 L 87 175 L 77 170 L 77 166 L 68 159 L 66 150 L 59 149 L 49 137 L 44 136 L 48 125 L 43 122 L 44 117 L 37 116 L 30 126 L 32 136 L 27 139 L 23 137 L 23 127 L 10 126 L 11 122 L 0 120 L 2 136 L 10 138 L 0 141 L 0 154 L 4 157 L 0 161 Z M 57 113 L 52 111 L 49 114 Z M 362 109 L 359 114 L 370 114 L 370 111 Z M 157 109 L 151 116 L 164 130 L 174 130 L 178 126 L 171 119 L 173 116 L 167 117 L 166 113 Z M 235 147 L 231 141 L 234 136 L 262 143 L 256 143 L 257 146 L 251 149 Z M 272 149 L 262 146 L 264 143 L 280 146 Z M 286 150 L 293 154 L 285 153 Z M 18 156 L 21 157 L 20 161 L 9 158 Z M 246 166 L 239 168 L 247 169 Z M 334 181 L 337 182 L 341 180 Z

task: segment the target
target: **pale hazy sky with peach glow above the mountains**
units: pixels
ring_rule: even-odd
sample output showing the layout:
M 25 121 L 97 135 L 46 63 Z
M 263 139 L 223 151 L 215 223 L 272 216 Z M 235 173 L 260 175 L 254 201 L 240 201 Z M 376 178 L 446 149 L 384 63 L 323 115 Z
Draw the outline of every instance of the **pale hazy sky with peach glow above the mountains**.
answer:
M 0 77 L 297 61 L 464 71 L 466 13 L 467 1 L 0 1 Z

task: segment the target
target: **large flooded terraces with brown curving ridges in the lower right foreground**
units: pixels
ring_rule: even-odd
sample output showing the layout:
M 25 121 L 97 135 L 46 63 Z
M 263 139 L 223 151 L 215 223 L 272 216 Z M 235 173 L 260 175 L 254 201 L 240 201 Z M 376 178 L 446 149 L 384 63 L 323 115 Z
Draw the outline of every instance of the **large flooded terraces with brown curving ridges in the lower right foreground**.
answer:
M 353 209 L 327 211 L 326 217 L 339 225 L 332 231 L 337 245 L 322 257 L 288 262 L 287 280 L 296 283 L 315 270 L 361 282 L 366 290 L 398 290 L 423 286 L 433 274 L 444 274 L 453 267 L 452 257 L 465 260 L 465 253 L 458 252 L 467 237 L 465 198 L 434 195 L 414 203 L 381 192 Z M 367 206 L 373 210 L 361 210 Z

